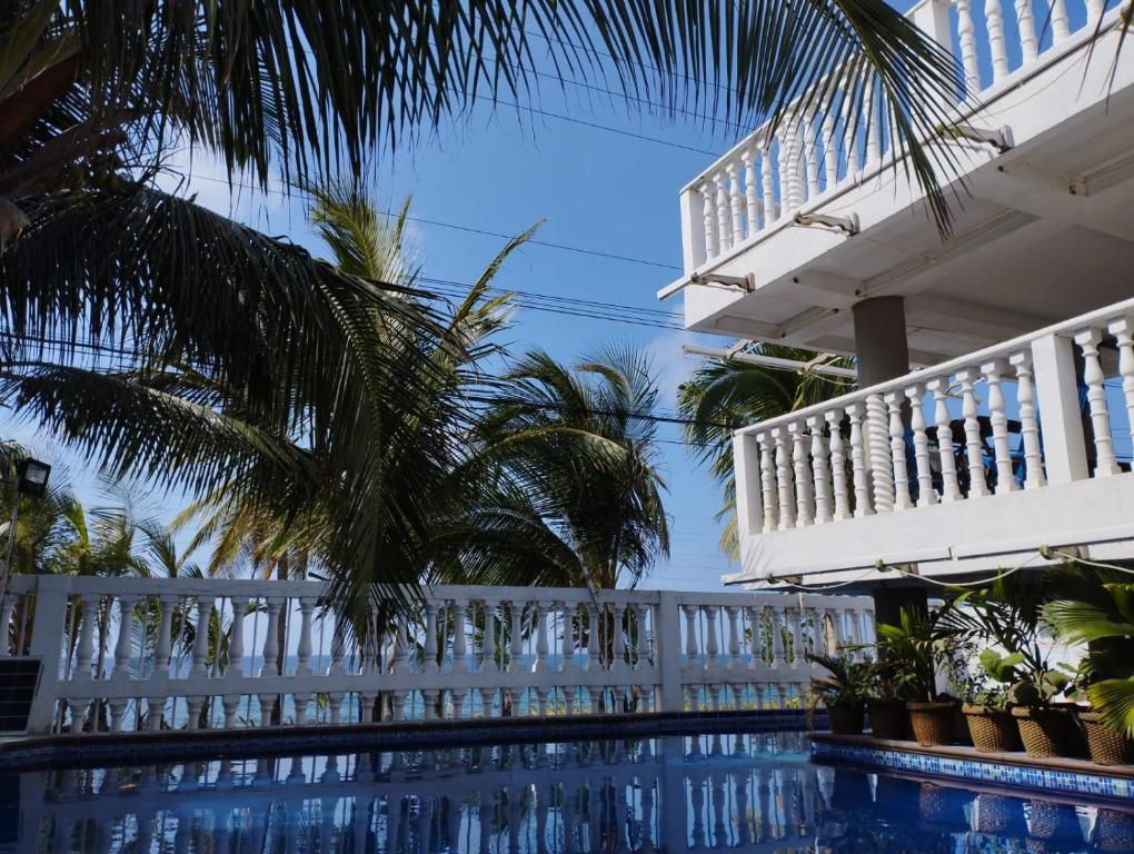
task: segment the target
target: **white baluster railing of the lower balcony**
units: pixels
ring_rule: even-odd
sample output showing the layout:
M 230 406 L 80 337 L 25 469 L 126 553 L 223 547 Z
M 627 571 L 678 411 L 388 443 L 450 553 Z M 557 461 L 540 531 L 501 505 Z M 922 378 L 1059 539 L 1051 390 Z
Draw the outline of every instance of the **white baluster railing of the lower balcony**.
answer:
M 1128 299 L 738 431 L 742 533 L 1129 477 L 1132 424 Z

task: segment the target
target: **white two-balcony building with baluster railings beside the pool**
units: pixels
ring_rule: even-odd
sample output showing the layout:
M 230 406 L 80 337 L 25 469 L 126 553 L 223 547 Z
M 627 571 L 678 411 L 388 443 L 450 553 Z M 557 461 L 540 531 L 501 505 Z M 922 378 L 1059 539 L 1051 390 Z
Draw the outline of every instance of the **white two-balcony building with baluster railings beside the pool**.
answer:
M 949 239 L 886 135 L 837 116 L 761 128 L 682 191 L 685 271 L 659 296 L 688 329 L 858 365 L 860 391 L 736 433 L 727 581 L 1134 558 L 1134 50 L 1115 60 L 1114 5 L 1041 7 L 909 12 L 966 78 Z

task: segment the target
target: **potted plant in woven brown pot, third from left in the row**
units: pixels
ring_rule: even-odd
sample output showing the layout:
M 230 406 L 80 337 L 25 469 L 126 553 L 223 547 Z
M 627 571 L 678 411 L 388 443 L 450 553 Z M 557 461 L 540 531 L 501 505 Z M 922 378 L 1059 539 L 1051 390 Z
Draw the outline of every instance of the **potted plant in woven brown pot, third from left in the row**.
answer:
M 948 633 L 940 632 L 938 615 L 905 607 L 899 625 L 879 623 L 880 658 L 892 661 L 897 678 L 906 686 L 906 712 L 914 738 L 923 747 L 953 742 L 956 702 L 937 694 L 937 668 L 948 658 Z

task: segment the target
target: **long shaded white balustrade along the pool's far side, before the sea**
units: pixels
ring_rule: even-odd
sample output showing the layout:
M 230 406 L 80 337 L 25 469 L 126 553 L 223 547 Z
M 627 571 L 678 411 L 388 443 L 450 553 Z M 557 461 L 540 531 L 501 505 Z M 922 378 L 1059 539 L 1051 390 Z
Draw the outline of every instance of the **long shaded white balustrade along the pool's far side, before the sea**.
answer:
M 14 576 L 0 653 L 43 661 L 31 732 L 83 733 L 785 708 L 873 637 L 861 597 L 434 586 L 359 644 L 328 595 Z

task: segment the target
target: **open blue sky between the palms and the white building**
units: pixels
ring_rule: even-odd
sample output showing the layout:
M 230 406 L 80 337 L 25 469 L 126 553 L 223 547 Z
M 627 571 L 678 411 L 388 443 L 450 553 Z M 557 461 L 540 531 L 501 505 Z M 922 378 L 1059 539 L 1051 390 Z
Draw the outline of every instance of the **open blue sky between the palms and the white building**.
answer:
M 738 130 L 689 116 L 663 120 L 650 116 L 649 108 L 632 111 L 620 99 L 593 90 L 568 85 L 561 91 L 547 78 L 540 83 L 531 103 L 574 121 L 477 102 L 467 116 L 422 134 L 414 145 L 383 152 L 378 158 L 379 192 L 392 202 L 412 194 L 411 214 L 421 219 L 508 235 L 545 220 L 538 235 L 542 240 L 652 262 L 530 245 L 511 255 L 497 285 L 665 308 L 674 312 L 670 322 L 679 323 L 679 299 L 659 305 L 654 296 L 678 276 L 682 264 L 678 189 L 716 159 L 713 152 L 727 150 Z M 230 191 L 222 169 L 205 157 L 183 155 L 174 167 L 184 172 L 188 192 L 200 203 L 325 254 L 306 227 L 302 200 L 242 187 Z M 163 181 L 170 189 L 177 183 L 174 175 Z M 472 281 L 505 243 L 420 222 L 412 225 L 409 236 L 425 276 L 463 282 Z M 662 412 L 674 409 L 677 384 L 694 365 L 682 356 L 680 345 L 696 338 L 676 329 L 525 307 L 506 333 L 515 352 L 542 347 L 566 361 L 595 344 L 633 343 L 653 358 Z M 659 430 L 672 548 L 670 560 L 646 586 L 719 589 L 720 575 L 735 568 L 717 549 L 720 526 L 713 515 L 719 493 L 679 443 L 678 426 L 663 424 Z M 20 429 L 16 438 L 59 465 L 60 473 L 66 470 L 83 500 L 92 506 L 108 502 L 98 474 L 50 437 Z M 138 506 L 167 517 L 181 505 L 177 497 L 146 493 L 143 484 L 116 492 L 111 502 L 130 494 Z

